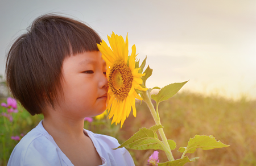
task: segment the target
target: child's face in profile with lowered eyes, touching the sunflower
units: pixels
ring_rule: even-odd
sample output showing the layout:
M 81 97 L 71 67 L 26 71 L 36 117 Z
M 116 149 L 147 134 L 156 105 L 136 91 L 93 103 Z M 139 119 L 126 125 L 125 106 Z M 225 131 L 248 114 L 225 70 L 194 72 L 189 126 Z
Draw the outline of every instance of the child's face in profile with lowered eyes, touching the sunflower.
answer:
M 60 99 L 61 114 L 80 119 L 101 114 L 106 109 L 108 80 L 106 64 L 99 51 L 84 52 L 64 59 Z

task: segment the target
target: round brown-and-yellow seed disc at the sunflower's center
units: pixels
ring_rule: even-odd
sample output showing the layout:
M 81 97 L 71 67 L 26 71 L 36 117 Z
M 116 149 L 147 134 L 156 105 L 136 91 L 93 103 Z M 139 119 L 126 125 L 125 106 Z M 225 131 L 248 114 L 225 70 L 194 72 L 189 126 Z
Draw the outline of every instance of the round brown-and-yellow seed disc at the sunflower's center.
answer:
M 114 96 L 123 101 L 133 85 L 133 74 L 123 60 L 115 61 L 109 73 L 109 87 Z

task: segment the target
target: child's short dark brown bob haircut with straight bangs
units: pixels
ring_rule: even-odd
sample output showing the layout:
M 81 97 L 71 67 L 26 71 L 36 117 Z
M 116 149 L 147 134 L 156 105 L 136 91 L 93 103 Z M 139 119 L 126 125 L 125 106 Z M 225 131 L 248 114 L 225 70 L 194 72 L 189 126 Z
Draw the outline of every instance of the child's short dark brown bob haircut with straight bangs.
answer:
M 66 57 L 99 51 L 101 38 L 84 23 L 55 14 L 36 18 L 27 33 L 15 40 L 6 57 L 7 86 L 31 114 L 41 114 L 46 104 L 63 95 L 61 73 Z

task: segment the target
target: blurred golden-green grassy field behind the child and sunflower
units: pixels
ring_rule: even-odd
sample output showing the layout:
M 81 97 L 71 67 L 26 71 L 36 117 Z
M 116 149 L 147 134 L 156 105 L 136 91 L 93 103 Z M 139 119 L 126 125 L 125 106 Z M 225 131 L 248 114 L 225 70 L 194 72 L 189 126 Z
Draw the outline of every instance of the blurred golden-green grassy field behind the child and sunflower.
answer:
M 2 111 L 0 109 L 0 111 Z M 186 166 L 203 165 L 256 165 L 256 101 L 249 101 L 246 97 L 233 101 L 225 98 L 210 96 L 203 97 L 189 92 L 178 93 L 168 101 L 159 105 L 159 114 L 167 139 L 175 140 L 177 148 L 172 151 L 175 159 L 181 157 L 177 149 L 187 146 L 189 138 L 196 134 L 213 135 L 228 148 L 210 151 L 197 150 L 194 154 L 187 154 L 189 158 L 199 156 L 195 163 Z M 14 115 L 13 134 L 26 134 L 43 118 L 42 115 L 31 117 L 26 111 L 19 111 Z M 110 125 L 110 120 L 102 119 L 93 123 L 85 122 L 85 128 L 100 133 L 115 136 L 119 143 L 129 139 L 141 127 L 151 127 L 154 121 L 143 102 L 137 103 L 137 118 L 132 114 L 126 120 L 121 130 L 119 126 Z M 9 155 L 18 141 L 10 139 L 10 128 L 6 131 L 3 117 L 0 117 L 0 165 L 5 165 Z M 5 151 L 3 151 L 5 144 Z M 153 152 L 129 150 L 134 157 L 135 165 L 146 166 L 147 159 Z M 167 161 L 165 153 L 159 151 L 160 162 Z

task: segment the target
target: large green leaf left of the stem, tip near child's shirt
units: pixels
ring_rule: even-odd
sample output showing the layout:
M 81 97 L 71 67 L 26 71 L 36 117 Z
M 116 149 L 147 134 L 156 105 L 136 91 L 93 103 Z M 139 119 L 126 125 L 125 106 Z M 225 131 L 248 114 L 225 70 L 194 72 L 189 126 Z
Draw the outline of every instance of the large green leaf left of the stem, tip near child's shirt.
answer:
M 163 126 L 152 126 L 150 129 L 143 127 L 117 148 L 126 147 L 133 150 L 163 150 L 163 144 L 160 142 L 156 134 L 156 131 L 158 131 L 159 128 L 163 128 Z

